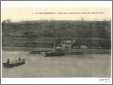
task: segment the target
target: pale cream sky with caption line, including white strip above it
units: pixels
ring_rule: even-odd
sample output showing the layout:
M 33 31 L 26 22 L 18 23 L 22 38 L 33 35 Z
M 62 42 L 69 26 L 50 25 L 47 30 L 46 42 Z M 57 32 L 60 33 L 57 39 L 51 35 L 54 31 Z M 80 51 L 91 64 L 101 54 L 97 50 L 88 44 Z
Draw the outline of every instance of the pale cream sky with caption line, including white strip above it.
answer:
M 111 20 L 111 3 L 3 2 L 1 21 L 23 20 Z

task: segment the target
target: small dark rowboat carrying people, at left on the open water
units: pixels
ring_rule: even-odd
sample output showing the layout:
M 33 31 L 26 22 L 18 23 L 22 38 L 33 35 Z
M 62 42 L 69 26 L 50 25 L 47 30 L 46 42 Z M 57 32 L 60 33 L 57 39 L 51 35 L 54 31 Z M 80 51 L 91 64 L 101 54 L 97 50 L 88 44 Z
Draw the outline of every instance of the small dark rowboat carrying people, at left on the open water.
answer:
M 8 59 L 7 62 L 3 63 L 3 66 L 7 67 L 7 68 L 11 68 L 11 67 L 19 66 L 19 65 L 22 65 L 22 64 L 25 64 L 25 59 L 19 58 L 18 62 L 15 62 L 15 63 L 10 63 L 9 59 Z

